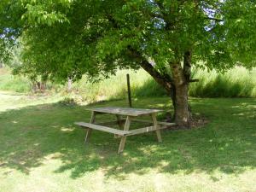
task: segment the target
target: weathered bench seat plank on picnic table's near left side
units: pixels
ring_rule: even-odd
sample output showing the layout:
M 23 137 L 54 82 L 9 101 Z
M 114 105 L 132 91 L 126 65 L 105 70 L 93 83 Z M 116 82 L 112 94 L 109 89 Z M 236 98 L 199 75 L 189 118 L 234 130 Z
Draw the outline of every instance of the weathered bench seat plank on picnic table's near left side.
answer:
M 120 136 L 125 136 L 125 134 L 130 133 L 129 131 L 116 130 L 116 129 L 110 128 L 108 126 L 95 125 L 95 124 L 84 123 L 84 122 L 76 122 L 75 125 L 88 127 L 90 129 L 93 129 L 93 130 L 105 131 L 105 132 L 117 134 L 117 135 L 120 135 Z

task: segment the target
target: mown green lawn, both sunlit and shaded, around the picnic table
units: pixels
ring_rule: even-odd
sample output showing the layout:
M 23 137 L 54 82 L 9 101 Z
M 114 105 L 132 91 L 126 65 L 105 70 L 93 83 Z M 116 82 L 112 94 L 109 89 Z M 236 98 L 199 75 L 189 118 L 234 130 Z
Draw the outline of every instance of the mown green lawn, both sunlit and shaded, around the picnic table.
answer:
M 256 99 L 192 98 L 204 127 L 119 139 L 84 131 L 88 107 L 125 106 L 125 101 L 68 106 L 56 98 L 0 95 L 0 191 L 256 191 Z M 138 98 L 137 108 L 169 109 L 167 97 Z M 160 114 L 160 118 L 164 114 Z M 102 119 L 111 119 L 102 116 Z

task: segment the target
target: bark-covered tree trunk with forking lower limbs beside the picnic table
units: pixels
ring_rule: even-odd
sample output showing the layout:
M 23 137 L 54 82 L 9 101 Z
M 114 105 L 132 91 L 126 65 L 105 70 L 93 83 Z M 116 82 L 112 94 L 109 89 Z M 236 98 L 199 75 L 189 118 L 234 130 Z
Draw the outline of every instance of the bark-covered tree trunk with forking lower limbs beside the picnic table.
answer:
M 131 47 L 128 47 L 128 49 L 131 56 L 138 59 L 141 67 L 170 93 L 174 107 L 173 117 L 177 125 L 180 128 L 189 128 L 192 120 L 188 102 L 191 53 L 186 52 L 184 55 L 184 71 L 180 62 L 171 63 L 172 77 L 170 77 L 156 70 L 136 49 Z

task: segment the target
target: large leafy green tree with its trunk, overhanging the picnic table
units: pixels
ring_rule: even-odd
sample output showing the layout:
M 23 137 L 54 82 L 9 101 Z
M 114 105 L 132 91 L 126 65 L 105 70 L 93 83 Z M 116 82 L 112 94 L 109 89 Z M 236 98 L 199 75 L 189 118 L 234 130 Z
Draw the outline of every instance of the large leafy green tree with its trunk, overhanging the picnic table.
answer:
M 181 126 L 192 120 L 191 67 L 255 66 L 253 0 L 20 0 L 19 10 L 19 27 L 3 29 L 22 32 L 21 72 L 96 80 L 143 67 L 170 93 Z

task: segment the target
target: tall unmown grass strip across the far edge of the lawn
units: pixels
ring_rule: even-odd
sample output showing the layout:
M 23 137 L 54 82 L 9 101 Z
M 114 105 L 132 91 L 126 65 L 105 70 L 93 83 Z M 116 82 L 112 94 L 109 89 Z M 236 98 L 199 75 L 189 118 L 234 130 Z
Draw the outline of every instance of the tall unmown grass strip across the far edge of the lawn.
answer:
M 13 77 L 9 74 L 9 71 L 4 73 L 4 69 L 2 69 L 2 73 L 2 76 L 0 76 L 0 90 L 26 92 L 31 89 L 26 79 Z M 84 77 L 73 84 L 73 90 L 75 93 L 79 93 L 81 100 L 86 102 L 125 98 L 127 90 L 126 73 L 130 73 L 131 76 L 132 97 L 166 96 L 166 91 L 143 70 L 137 72 L 122 70 L 116 76 L 96 84 L 87 83 Z M 200 79 L 200 81 L 190 84 L 189 96 L 256 97 L 256 68 L 248 71 L 245 68 L 236 67 L 224 74 L 203 70 L 196 70 L 194 73 L 194 79 Z M 57 84 L 49 84 L 49 88 L 58 90 L 58 92 L 66 90 L 65 86 Z

